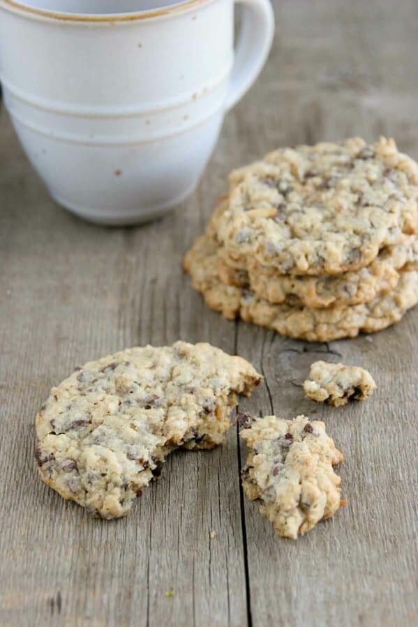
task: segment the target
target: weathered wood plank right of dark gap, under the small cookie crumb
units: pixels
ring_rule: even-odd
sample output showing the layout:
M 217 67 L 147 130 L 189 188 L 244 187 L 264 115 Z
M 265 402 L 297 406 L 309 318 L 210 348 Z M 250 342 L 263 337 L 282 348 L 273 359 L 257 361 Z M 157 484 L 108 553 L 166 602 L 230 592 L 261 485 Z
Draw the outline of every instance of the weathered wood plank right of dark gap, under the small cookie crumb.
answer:
M 254 119 L 260 98 L 271 144 L 385 133 L 418 157 L 416 4 L 396 3 L 394 10 L 389 2 L 296 1 L 291 8 L 277 3 L 276 13 L 279 40 L 264 73 L 264 98 L 251 93 L 237 115 Z M 412 76 L 413 84 L 406 78 Z M 276 89 L 278 106 L 267 97 Z M 253 145 L 251 137 L 248 149 Z M 340 473 L 348 499 L 297 543 L 278 540 L 256 504 L 245 502 L 253 626 L 416 624 L 417 335 L 417 310 L 370 338 L 329 345 L 239 323 L 237 352 L 262 368 L 269 389 L 240 407 L 323 418 L 345 453 Z M 318 358 L 368 368 L 378 393 L 341 409 L 305 399 L 300 385 Z

